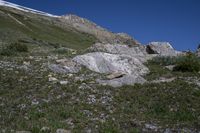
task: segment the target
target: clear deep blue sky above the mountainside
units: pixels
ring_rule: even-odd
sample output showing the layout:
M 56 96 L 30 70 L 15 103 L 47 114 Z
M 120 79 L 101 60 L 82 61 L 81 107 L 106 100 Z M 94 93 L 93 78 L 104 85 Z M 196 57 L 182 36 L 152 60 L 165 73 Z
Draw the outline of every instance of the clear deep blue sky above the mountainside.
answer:
M 76 14 L 142 44 L 168 41 L 178 50 L 200 43 L 200 0 L 7 0 L 55 15 Z

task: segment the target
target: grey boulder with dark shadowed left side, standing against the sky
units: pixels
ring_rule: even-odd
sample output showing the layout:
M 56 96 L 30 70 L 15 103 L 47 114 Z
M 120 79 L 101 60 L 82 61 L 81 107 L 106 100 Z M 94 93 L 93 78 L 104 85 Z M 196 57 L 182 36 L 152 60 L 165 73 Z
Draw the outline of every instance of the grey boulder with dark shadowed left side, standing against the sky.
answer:
M 151 42 L 146 46 L 148 54 L 158 54 L 160 56 L 177 56 L 181 52 L 174 50 L 168 42 Z

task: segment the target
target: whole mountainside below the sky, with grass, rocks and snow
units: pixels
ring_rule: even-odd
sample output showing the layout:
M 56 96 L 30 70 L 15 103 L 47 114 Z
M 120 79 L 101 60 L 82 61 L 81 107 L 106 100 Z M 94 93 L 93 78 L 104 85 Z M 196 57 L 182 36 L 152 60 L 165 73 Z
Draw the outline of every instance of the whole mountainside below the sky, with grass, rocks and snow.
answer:
M 4 3 L 0 46 L 2 133 L 200 133 L 200 59 L 169 43 Z

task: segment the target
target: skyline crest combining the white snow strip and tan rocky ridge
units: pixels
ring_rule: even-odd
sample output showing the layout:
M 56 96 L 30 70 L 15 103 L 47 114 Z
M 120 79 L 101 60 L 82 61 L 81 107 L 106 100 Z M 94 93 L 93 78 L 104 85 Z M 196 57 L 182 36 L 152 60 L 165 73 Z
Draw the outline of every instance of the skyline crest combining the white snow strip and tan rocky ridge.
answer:
M 121 44 L 129 44 L 129 45 L 138 45 L 138 41 L 134 40 L 132 37 L 125 37 L 124 35 L 113 33 L 111 31 L 108 31 L 105 28 L 102 28 L 101 26 L 97 25 L 94 22 L 91 22 L 88 19 L 81 18 L 76 15 L 62 15 L 62 16 L 56 16 L 52 14 L 48 14 L 45 12 L 37 11 L 31 8 L 26 8 L 23 6 L 19 6 L 17 4 L 12 4 L 10 2 L 5 2 L 1 0 L 0 6 L 6 6 L 10 8 L 15 8 L 17 10 L 21 10 L 22 12 L 27 13 L 33 13 L 36 16 L 36 19 L 42 17 L 46 18 L 47 20 L 50 20 L 50 23 L 53 23 L 56 26 L 69 28 L 72 27 L 73 29 L 76 29 L 79 32 L 84 32 L 87 34 L 91 34 L 95 36 L 100 42 L 102 43 L 121 43 Z M 15 12 L 15 11 L 14 11 Z M 21 14 L 20 12 L 16 11 L 16 13 Z M 41 15 L 41 16 L 37 16 Z M 37 18 L 38 17 L 38 18 Z M 50 17 L 50 18 L 48 18 Z

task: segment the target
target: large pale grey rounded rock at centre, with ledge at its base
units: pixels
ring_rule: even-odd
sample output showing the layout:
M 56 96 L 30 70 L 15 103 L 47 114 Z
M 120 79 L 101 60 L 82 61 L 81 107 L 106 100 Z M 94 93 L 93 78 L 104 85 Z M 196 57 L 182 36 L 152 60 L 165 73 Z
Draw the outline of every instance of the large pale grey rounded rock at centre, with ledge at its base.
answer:
M 110 54 L 103 52 L 93 52 L 78 55 L 73 61 L 87 67 L 88 69 L 105 74 L 118 73 L 108 80 L 98 79 L 97 82 L 103 85 L 119 87 L 122 85 L 133 85 L 144 83 L 142 75 L 149 72 L 148 68 L 136 57 L 127 55 Z M 122 73 L 119 75 L 119 73 Z

